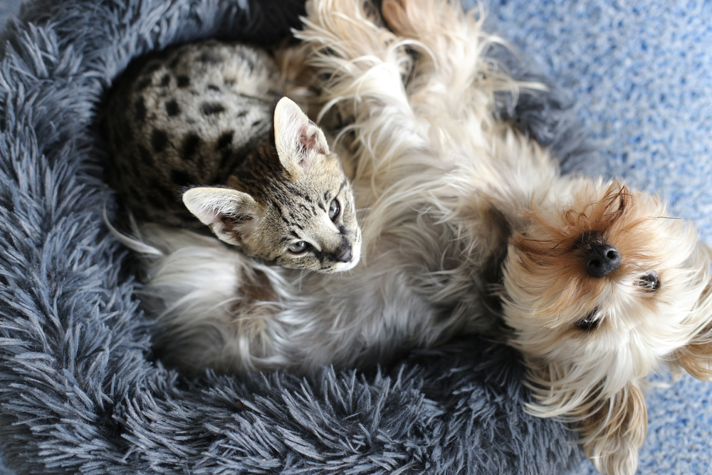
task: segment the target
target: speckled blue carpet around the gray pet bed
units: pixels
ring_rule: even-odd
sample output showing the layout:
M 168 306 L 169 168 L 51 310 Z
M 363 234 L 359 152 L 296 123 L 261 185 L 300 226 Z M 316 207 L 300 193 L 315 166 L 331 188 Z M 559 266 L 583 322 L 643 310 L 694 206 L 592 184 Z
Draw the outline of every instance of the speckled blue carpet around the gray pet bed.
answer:
M 0 1 L 0 24 L 18 9 Z M 511 1 L 491 25 L 577 101 L 606 176 L 659 193 L 712 243 L 712 4 Z M 639 474 L 712 473 L 712 385 L 651 387 Z M 0 467 L 0 475 L 10 472 Z M 584 461 L 572 474 L 595 474 Z

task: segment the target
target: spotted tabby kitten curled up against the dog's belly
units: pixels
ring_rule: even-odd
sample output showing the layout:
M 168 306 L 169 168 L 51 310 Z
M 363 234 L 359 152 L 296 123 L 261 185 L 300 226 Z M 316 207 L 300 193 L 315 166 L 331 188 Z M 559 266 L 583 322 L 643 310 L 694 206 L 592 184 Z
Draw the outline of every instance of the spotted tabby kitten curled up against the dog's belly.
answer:
M 108 182 L 140 221 L 208 226 L 285 268 L 347 270 L 361 249 L 352 187 L 322 130 L 277 101 L 279 82 L 271 56 L 241 44 L 144 58 L 105 110 Z

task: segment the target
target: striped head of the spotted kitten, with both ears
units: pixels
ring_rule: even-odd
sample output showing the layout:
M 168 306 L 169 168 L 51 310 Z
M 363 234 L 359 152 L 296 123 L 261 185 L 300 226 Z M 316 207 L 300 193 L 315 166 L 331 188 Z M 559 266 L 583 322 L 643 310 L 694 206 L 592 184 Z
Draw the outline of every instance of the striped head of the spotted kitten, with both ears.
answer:
M 262 168 L 250 170 L 249 179 L 236 175 L 229 187 L 187 189 L 186 207 L 248 256 L 322 273 L 355 266 L 361 231 L 353 191 L 322 130 L 282 98 L 274 144 L 263 149 Z

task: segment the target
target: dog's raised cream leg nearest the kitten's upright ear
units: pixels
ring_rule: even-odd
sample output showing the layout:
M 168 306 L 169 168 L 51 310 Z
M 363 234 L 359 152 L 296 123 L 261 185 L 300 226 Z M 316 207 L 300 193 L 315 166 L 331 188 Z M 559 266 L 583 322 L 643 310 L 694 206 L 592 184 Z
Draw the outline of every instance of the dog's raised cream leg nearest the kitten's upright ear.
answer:
M 355 155 L 354 182 L 370 183 L 371 196 L 379 197 L 422 169 L 399 157 L 428 147 L 429 125 L 414 114 L 404 89 L 412 57 L 370 2 L 310 1 L 307 11 L 305 28 L 295 34 L 324 78 L 318 84 L 323 111 L 337 110 L 342 118 L 338 140 Z

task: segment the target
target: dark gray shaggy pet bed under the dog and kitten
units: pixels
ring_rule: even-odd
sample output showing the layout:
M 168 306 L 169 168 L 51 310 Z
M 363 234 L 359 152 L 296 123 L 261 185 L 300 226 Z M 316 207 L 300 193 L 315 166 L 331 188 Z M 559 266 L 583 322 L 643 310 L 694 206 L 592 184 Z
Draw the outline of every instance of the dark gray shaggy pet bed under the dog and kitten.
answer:
M 187 380 L 152 357 L 95 118 L 132 58 L 208 36 L 273 43 L 303 5 L 39 0 L 0 62 L 0 445 L 21 474 L 557 474 L 572 434 L 523 412 L 518 355 L 470 338 L 377 373 Z M 515 75 L 528 75 L 512 56 Z M 586 153 L 555 92 L 502 118 Z M 573 144 L 573 145 L 572 145 Z

